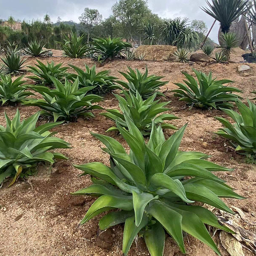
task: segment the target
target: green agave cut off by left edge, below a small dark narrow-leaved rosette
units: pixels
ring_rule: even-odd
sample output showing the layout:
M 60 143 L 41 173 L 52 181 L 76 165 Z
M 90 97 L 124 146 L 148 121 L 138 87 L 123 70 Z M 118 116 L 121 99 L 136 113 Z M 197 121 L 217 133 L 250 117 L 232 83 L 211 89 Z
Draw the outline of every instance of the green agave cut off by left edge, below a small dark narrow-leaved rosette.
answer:
M 11 75 L 1 75 L 0 74 L 0 101 L 2 105 L 4 103 L 21 102 L 29 95 L 34 95 L 30 91 L 25 91 L 26 86 L 22 86 L 26 81 L 22 81 L 24 76 L 20 76 L 14 81 L 12 81 Z

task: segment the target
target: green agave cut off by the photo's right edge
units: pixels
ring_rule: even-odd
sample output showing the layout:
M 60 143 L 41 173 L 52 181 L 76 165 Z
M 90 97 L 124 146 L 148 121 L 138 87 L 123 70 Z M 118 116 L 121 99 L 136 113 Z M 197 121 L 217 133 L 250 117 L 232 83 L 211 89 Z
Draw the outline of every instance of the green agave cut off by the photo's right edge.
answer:
M 256 105 L 247 101 L 249 107 L 240 100 L 236 101 L 240 115 L 233 110 L 222 109 L 236 123 L 231 124 L 223 117 L 215 117 L 225 127 L 215 133 L 229 139 L 236 152 L 256 156 Z

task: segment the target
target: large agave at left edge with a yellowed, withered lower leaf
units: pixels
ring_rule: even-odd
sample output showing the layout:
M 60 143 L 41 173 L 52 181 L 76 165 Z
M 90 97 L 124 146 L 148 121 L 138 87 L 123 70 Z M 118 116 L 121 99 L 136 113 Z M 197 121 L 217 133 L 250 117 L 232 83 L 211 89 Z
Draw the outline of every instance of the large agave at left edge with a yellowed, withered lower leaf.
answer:
M 22 172 L 38 162 L 54 163 L 54 158 L 67 159 L 64 155 L 47 152 L 55 148 L 70 148 L 69 143 L 52 137 L 55 132 L 49 132 L 55 126 L 62 124 L 48 123 L 35 128 L 40 111 L 20 122 L 17 112 L 12 120 L 5 114 L 6 127 L 0 126 L 0 185 L 6 177 L 13 176 L 11 186 Z

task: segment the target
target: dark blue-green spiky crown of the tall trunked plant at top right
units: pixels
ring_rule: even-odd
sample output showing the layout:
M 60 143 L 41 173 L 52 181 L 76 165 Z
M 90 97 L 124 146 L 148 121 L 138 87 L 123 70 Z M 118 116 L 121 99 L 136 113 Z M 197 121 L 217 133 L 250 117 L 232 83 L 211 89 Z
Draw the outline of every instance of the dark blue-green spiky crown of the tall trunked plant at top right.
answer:
M 223 33 L 228 33 L 234 20 L 246 11 L 249 0 L 212 0 L 212 4 L 206 0 L 209 8 L 201 9 L 214 19 L 218 20 Z

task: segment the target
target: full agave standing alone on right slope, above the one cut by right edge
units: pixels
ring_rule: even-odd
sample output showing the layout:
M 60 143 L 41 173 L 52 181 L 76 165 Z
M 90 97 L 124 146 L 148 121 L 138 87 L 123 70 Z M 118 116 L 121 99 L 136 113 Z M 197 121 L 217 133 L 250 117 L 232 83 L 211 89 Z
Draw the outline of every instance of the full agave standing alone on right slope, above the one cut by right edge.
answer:
M 192 68 L 193 69 L 193 68 Z M 233 83 L 230 80 L 216 80 L 216 77 L 212 79 L 212 72 L 207 75 L 201 71 L 193 69 L 198 82 L 192 75 L 186 72 L 182 72 L 187 78 L 183 80 L 185 84 L 174 83 L 179 86 L 180 89 L 172 90 L 174 96 L 179 97 L 181 101 L 188 102 L 191 106 L 197 108 L 233 108 L 233 104 L 230 101 L 236 101 L 240 96 L 232 94 L 231 92 L 242 93 L 241 90 L 231 86 L 224 86 L 227 83 Z M 199 83 L 199 85 L 198 85 Z

